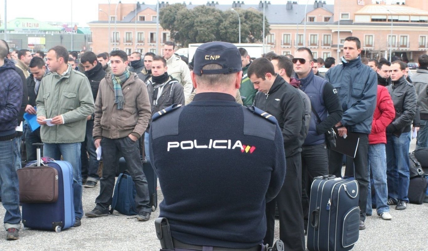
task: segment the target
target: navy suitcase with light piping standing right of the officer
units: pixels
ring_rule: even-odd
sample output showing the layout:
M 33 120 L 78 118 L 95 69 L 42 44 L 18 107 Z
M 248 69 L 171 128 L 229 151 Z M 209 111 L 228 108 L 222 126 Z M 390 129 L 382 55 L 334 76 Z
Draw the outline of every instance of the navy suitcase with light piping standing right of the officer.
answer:
M 309 202 L 307 248 L 348 251 L 358 241 L 360 208 L 356 180 L 334 175 L 314 179 Z

